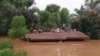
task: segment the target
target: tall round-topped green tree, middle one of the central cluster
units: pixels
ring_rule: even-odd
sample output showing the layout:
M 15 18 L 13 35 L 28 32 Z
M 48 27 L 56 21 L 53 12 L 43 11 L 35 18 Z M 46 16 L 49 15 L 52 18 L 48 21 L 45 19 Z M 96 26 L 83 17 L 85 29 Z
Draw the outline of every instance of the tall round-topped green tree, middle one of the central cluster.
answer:
M 60 6 L 56 4 L 49 4 L 46 7 L 46 11 L 50 12 L 50 17 L 48 24 L 52 27 L 61 27 L 61 16 L 60 16 Z M 50 22 L 52 23 L 50 23 Z

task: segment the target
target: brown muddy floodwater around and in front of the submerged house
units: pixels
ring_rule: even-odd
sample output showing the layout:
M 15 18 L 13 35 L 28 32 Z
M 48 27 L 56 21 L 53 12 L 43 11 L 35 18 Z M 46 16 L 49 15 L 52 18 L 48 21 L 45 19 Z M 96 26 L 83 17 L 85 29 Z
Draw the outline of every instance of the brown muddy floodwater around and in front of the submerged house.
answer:
M 25 50 L 28 56 L 100 56 L 100 40 L 26 42 L 14 39 L 13 43 L 15 50 Z

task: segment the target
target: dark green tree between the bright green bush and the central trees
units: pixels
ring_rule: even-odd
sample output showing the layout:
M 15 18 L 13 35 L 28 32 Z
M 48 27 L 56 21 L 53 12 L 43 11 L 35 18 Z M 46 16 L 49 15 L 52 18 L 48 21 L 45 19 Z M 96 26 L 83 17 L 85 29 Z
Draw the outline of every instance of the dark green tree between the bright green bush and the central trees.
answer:
M 39 12 L 38 8 L 21 10 L 22 15 L 25 17 L 26 25 L 29 29 L 33 26 L 37 27 L 37 24 L 39 22 L 38 12 Z

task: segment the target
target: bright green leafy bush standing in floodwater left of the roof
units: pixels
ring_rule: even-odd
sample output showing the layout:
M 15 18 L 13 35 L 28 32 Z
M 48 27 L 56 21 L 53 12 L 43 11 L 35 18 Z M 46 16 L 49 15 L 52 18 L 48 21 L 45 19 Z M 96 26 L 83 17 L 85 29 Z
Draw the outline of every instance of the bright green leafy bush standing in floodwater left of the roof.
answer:
M 11 29 L 9 29 L 8 35 L 10 37 L 24 37 L 28 33 L 28 29 L 25 25 L 25 18 L 23 16 L 14 16 L 12 20 Z

